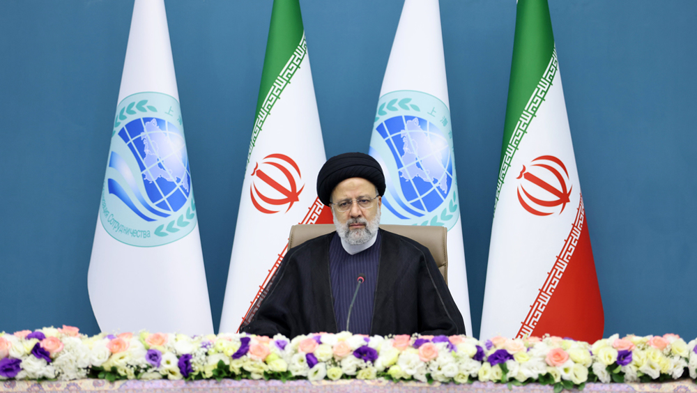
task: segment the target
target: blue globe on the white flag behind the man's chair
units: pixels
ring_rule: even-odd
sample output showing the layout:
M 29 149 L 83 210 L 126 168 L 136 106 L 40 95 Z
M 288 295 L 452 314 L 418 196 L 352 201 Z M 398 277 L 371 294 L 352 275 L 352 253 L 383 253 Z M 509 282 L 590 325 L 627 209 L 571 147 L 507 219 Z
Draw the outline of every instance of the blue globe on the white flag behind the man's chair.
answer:
M 441 129 L 424 118 L 395 116 L 378 124 L 376 130 L 397 164 L 398 174 L 391 174 L 391 178 L 399 183 L 404 196 L 402 200 L 391 195 L 397 205 L 414 217 L 434 212 L 447 200 L 453 178 L 450 145 Z M 404 217 L 389 201 L 388 208 Z

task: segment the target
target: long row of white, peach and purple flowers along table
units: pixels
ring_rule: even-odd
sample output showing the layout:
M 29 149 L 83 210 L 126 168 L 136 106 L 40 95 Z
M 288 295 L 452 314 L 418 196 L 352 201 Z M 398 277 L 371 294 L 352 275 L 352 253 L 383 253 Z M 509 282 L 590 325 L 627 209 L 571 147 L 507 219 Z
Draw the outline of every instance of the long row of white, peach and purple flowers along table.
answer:
M 555 392 L 585 383 L 697 378 L 697 339 L 675 334 L 594 344 L 560 337 L 480 341 L 464 335 L 390 337 L 317 333 L 288 339 L 248 334 L 141 331 L 88 337 L 77 327 L 0 333 L 0 380 L 250 378 L 541 383 Z

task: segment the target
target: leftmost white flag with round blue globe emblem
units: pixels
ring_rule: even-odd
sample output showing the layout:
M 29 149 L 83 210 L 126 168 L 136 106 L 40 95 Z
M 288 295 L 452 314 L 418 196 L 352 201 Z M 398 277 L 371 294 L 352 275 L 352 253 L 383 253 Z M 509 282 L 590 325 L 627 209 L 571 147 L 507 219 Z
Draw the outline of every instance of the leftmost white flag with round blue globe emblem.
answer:
M 88 273 L 103 332 L 213 333 L 162 0 L 136 0 Z

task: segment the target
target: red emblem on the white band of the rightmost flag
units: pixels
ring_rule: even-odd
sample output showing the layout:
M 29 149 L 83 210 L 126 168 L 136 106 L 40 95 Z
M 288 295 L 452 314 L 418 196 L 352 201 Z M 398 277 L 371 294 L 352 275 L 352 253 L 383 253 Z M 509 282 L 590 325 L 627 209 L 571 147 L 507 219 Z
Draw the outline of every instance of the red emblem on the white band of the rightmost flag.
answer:
M 553 155 L 541 155 L 528 166 L 523 165 L 517 179 L 521 180 L 518 201 L 528 213 L 539 216 L 562 214 L 571 201 L 574 186 L 569 185 L 569 171 Z

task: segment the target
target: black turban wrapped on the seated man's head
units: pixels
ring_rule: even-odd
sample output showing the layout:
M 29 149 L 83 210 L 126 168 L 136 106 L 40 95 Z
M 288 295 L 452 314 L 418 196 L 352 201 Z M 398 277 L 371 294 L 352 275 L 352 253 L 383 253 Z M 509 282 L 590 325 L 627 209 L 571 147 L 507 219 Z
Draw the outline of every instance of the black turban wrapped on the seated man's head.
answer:
M 319 200 L 329 205 L 334 188 L 348 178 L 364 178 L 373 183 L 379 195 L 385 194 L 385 175 L 380 164 L 364 153 L 344 153 L 331 157 L 319 170 L 317 175 Z

